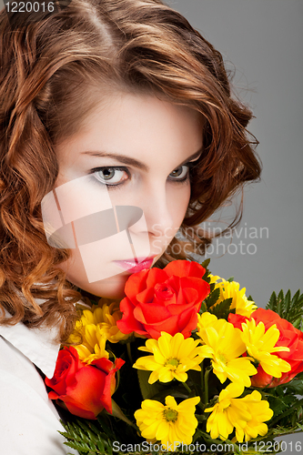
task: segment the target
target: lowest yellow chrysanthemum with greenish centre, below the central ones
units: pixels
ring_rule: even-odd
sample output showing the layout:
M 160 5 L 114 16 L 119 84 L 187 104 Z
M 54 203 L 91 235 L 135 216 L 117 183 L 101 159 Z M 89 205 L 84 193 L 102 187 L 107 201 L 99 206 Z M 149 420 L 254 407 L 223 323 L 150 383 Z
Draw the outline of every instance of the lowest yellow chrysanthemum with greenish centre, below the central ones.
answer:
M 145 399 L 141 409 L 135 412 L 136 425 L 143 438 L 160 440 L 168 450 L 174 450 L 177 442 L 189 445 L 197 429 L 195 411 L 199 401 L 199 397 L 194 397 L 177 404 L 176 399 L 168 395 L 164 405 Z

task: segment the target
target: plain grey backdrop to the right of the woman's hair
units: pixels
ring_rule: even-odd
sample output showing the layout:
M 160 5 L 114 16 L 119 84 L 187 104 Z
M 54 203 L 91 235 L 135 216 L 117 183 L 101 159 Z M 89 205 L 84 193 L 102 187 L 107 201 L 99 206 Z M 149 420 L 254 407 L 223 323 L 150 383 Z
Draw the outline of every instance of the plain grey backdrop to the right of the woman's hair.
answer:
M 245 190 L 234 247 L 227 250 L 230 239 L 224 240 L 227 253 L 222 256 L 221 247 L 216 254 L 215 248 L 209 257 L 214 273 L 234 276 L 264 307 L 273 290 L 290 288 L 294 293 L 302 287 L 303 0 L 167 3 L 217 47 L 229 68 L 230 62 L 235 66 L 237 93 L 256 116 L 249 129 L 260 142 L 262 181 Z M 219 215 L 227 220 L 228 213 L 230 207 Z M 252 227 L 258 238 L 249 238 Z M 263 227 L 268 236 L 263 230 L 260 238 Z M 247 250 L 249 244 L 253 246 Z

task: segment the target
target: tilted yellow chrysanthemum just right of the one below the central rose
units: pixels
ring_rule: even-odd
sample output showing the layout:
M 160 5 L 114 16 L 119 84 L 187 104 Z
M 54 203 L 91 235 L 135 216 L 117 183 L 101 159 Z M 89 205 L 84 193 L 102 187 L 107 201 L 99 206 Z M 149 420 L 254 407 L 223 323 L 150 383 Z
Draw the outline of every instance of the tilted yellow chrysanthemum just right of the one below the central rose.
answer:
M 247 348 L 241 339 L 241 330 L 234 328 L 225 319 L 214 319 L 214 315 L 203 313 L 199 319 L 198 335 L 205 345 L 201 347 L 204 358 L 212 359 L 217 378 L 223 383 L 228 378 L 249 387 L 249 376 L 257 374 L 257 369 L 248 357 L 240 357 Z M 213 320 L 212 325 L 207 325 Z

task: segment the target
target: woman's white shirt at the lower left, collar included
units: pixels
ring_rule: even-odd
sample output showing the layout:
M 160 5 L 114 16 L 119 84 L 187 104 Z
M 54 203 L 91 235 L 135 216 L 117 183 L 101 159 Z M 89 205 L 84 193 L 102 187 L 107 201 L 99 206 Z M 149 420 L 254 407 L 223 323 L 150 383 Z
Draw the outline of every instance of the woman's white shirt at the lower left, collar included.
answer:
M 35 365 L 52 378 L 60 348 L 55 329 L 0 326 L 0 450 L 5 455 L 77 454 Z M 35 364 L 35 365 L 34 365 Z

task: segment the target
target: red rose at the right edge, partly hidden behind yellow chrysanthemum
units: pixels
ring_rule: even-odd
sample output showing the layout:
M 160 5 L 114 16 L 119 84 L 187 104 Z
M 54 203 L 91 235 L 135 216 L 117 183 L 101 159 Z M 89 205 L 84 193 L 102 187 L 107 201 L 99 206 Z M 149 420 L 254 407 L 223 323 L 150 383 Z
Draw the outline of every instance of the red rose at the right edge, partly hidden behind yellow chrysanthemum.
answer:
M 255 319 L 257 325 L 262 321 L 266 330 L 276 324 L 280 332 L 276 346 L 286 346 L 289 348 L 289 351 L 275 352 L 275 356 L 279 359 L 286 360 L 291 367 L 290 371 L 282 373 L 281 378 L 273 378 L 259 365 L 258 373 L 251 378 L 251 385 L 254 387 L 276 387 L 279 384 L 289 382 L 289 380 L 303 371 L 303 332 L 295 329 L 288 320 L 280 318 L 271 309 L 258 308 L 251 313 L 250 318 Z M 242 329 L 241 322 L 245 322 L 246 320 L 247 318 L 239 315 L 230 314 L 228 316 L 228 321 L 238 329 Z

